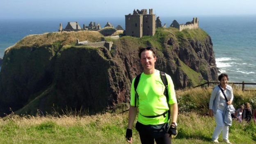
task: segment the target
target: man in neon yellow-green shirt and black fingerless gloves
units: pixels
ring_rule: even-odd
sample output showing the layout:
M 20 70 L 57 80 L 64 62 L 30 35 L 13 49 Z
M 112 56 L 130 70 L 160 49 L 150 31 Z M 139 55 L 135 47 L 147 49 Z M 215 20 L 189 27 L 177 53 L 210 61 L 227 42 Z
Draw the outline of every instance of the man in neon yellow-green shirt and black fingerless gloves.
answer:
M 138 75 L 139 77 L 136 77 L 137 79 L 133 79 L 131 85 L 126 141 L 133 142 L 132 127 L 139 109 L 135 128 L 139 132 L 141 143 L 154 144 L 155 140 L 157 144 L 171 144 L 171 137 L 177 135 L 176 120 L 178 116 L 174 84 L 169 75 L 155 69 L 156 56 L 151 47 L 141 48 L 139 58 L 144 71 Z M 162 76 L 167 80 L 167 87 L 164 85 Z M 135 88 L 136 83 L 137 89 Z M 168 98 L 166 94 L 168 94 Z M 168 129 L 169 114 L 171 114 L 171 125 Z

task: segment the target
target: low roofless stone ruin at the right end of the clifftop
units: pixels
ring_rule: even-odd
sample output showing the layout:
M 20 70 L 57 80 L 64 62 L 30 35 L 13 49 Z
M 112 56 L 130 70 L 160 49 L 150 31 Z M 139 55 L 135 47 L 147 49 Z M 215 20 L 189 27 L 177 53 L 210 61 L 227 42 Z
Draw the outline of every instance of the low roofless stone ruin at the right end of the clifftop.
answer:
M 184 30 L 186 28 L 188 28 L 188 29 L 196 29 L 196 28 L 199 27 L 199 21 L 198 21 L 198 18 L 193 18 L 193 21 L 191 21 L 191 22 L 189 21 L 185 25 L 184 24 L 180 25 L 176 20 L 174 20 L 171 23 L 170 27 L 176 27 L 176 28 L 179 29 L 179 31 L 182 31 L 182 30 Z

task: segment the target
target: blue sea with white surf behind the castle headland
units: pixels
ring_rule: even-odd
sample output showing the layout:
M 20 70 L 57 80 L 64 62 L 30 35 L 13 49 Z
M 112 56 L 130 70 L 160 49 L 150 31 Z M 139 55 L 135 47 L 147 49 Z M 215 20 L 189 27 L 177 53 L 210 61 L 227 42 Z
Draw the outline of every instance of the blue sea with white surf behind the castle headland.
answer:
M 199 27 L 213 41 L 215 60 L 220 73 L 229 75 L 229 82 L 256 83 L 256 15 L 198 16 Z M 161 17 L 167 27 L 173 20 L 178 23 L 192 21 L 192 16 Z M 59 23 L 66 27 L 68 22 L 89 25 L 91 21 L 104 27 L 107 22 L 114 27 L 125 28 L 125 17 L 110 18 L 44 18 L 44 19 L 0 19 L 0 58 L 5 49 L 29 34 L 57 32 Z M 256 85 L 255 85 L 256 86 Z

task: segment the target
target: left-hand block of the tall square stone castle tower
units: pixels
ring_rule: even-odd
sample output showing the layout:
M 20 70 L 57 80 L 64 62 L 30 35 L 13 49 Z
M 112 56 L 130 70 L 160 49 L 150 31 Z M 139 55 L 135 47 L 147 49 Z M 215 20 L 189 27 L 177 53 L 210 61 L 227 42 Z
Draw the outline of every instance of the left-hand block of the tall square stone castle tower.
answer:
M 126 35 L 142 37 L 142 15 L 126 15 Z

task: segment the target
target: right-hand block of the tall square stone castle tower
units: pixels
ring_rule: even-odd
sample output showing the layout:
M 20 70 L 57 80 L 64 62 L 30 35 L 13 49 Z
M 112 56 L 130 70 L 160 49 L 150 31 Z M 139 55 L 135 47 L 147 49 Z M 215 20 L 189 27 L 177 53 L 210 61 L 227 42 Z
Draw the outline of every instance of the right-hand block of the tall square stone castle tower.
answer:
M 143 15 L 143 36 L 155 35 L 155 15 L 145 14 Z

